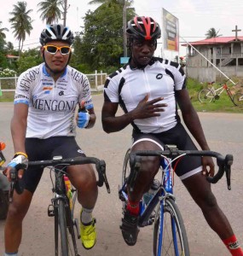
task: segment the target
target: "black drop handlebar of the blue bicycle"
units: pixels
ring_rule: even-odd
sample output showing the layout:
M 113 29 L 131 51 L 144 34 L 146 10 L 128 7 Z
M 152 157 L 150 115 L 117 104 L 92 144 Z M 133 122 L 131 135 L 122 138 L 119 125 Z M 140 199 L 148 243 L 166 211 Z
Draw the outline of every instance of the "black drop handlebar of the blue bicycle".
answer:
M 176 156 L 182 155 L 194 155 L 194 156 L 211 156 L 217 159 L 217 166 L 218 171 L 214 177 L 206 177 L 207 181 L 210 183 L 217 183 L 222 177 L 225 172 L 226 179 L 227 179 L 227 186 L 228 189 L 231 189 L 230 185 L 230 174 L 231 174 L 231 166 L 233 164 L 233 155 L 226 154 L 223 156 L 220 153 L 211 150 L 179 150 L 177 148 L 166 148 L 165 150 L 139 150 L 136 152 L 130 153 L 130 162 L 131 166 L 135 166 L 136 162 L 139 162 L 139 157 L 141 156 L 166 156 L 168 158 L 175 158 Z M 137 166 L 135 166 L 136 168 Z

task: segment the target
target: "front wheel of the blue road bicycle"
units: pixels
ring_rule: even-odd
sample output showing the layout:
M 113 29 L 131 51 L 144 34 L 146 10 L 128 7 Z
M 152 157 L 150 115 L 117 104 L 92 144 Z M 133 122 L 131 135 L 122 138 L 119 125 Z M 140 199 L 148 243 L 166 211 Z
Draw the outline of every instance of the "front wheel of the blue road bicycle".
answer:
M 176 202 L 171 198 L 166 198 L 163 209 L 164 220 L 162 228 L 160 224 L 159 202 L 153 224 L 153 256 L 189 256 L 188 237 Z M 160 233 L 160 230 L 163 233 Z M 161 238 L 163 244 L 159 250 L 159 239 Z

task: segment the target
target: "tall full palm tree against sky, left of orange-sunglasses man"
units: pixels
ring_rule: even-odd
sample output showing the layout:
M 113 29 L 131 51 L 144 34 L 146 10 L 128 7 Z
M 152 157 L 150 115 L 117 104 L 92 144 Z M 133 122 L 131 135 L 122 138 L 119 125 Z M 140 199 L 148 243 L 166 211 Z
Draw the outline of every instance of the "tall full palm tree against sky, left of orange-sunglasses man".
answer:
M 17 4 L 14 4 L 13 11 L 9 13 L 9 15 L 12 15 L 9 22 L 12 23 L 11 28 L 14 30 L 14 37 L 19 41 L 19 55 L 26 40 L 26 33 L 30 35 L 33 29 L 33 20 L 29 16 L 32 9 L 26 10 L 26 5 L 26 2 L 17 2 Z

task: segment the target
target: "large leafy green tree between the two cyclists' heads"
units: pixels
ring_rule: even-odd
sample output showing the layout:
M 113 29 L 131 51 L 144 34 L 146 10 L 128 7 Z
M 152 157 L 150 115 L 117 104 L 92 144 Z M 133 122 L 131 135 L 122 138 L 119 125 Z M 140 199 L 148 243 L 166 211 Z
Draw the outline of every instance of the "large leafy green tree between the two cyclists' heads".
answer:
M 118 67 L 119 57 L 123 54 L 123 4 L 115 0 L 104 2 L 84 17 L 80 61 L 88 63 L 93 70 Z M 128 9 L 127 19 L 132 16 L 134 10 Z

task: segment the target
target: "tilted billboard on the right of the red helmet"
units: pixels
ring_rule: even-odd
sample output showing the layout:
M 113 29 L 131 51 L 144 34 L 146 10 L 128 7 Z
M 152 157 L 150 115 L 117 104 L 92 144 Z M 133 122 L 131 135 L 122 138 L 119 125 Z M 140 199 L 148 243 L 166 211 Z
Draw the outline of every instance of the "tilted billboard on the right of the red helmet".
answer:
M 164 49 L 179 51 L 179 20 L 163 9 Z

